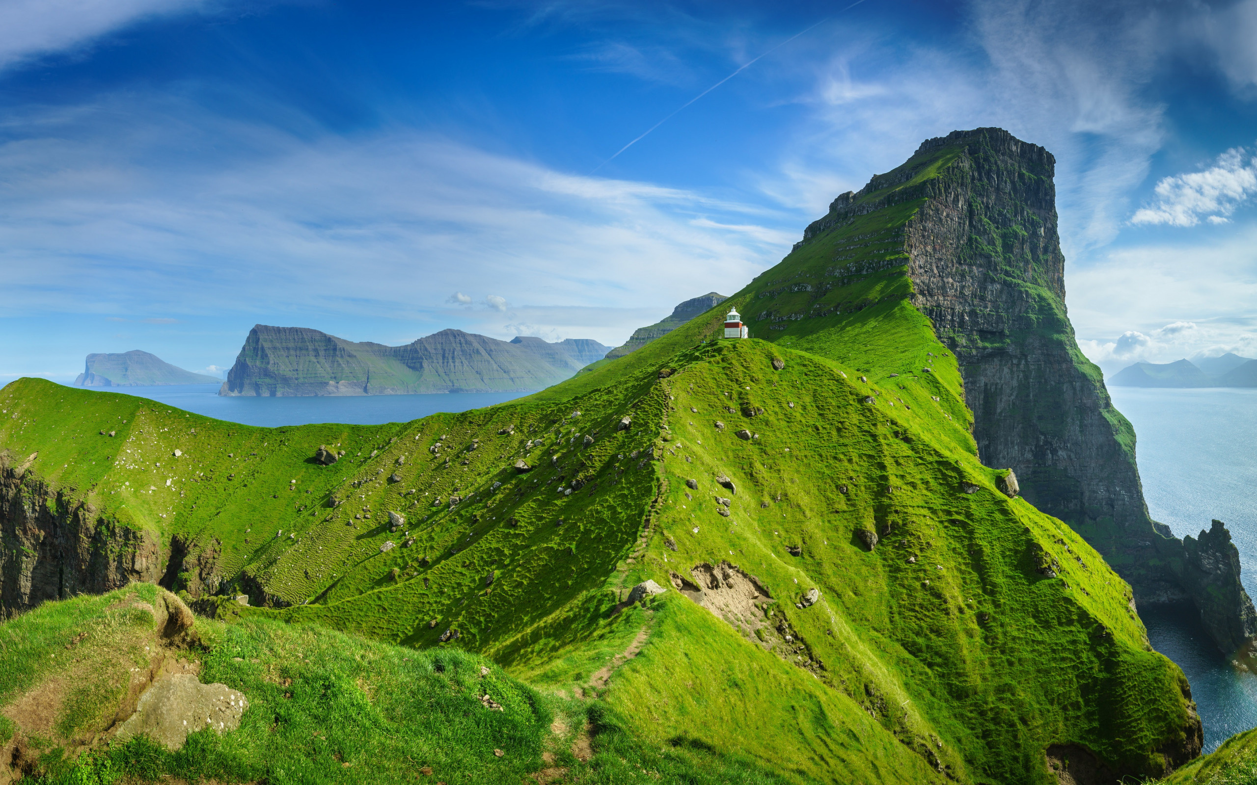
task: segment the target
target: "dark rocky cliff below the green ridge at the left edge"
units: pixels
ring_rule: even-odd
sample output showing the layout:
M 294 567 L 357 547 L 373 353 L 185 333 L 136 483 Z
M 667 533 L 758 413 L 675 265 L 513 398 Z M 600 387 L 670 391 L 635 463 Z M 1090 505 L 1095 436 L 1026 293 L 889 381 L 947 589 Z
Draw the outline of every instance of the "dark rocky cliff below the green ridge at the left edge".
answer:
M 0 619 L 44 600 L 161 577 L 162 548 L 152 533 L 50 491 L 28 472 L 30 462 L 0 452 Z

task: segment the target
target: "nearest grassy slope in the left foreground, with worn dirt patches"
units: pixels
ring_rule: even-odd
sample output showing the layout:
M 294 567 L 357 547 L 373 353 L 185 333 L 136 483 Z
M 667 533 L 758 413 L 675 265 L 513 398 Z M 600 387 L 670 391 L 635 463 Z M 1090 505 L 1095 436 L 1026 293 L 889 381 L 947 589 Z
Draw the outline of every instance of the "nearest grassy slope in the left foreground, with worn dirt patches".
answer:
M 781 781 L 715 752 L 644 746 L 605 707 L 541 695 L 458 649 L 266 619 L 199 619 L 173 643 L 158 632 L 158 592 L 50 602 L 0 627 L 0 781 Z M 177 751 L 117 737 L 138 693 L 170 673 L 244 693 L 240 727 L 192 732 Z

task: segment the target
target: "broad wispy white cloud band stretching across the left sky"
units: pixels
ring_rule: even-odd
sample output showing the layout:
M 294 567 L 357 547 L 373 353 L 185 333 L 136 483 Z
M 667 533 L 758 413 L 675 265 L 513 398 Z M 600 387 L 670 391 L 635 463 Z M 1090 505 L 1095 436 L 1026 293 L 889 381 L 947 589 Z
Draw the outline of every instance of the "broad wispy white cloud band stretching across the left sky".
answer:
M 410 320 L 420 334 L 459 325 L 509 337 L 485 319 L 504 299 L 449 308 L 471 303 L 460 290 L 469 280 L 491 280 L 512 291 L 513 313 L 591 306 L 564 333 L 611 343 L 649 322 L 597 309 L 667 310 L 737 290 L 797 231 L 797 217 L 758 206 L 567 175 L 415 132 L 308 141 L 176 99 L 117 100 L 0 121 L 9 315 L 67 303 L 171 318 L 324 311 Z M 31 128 L 38 136 L 19 136 Z M 180 138 L 180 149 L 155 146 L 161 138 Z M 190 158 L 189 144 L 217 152 Z

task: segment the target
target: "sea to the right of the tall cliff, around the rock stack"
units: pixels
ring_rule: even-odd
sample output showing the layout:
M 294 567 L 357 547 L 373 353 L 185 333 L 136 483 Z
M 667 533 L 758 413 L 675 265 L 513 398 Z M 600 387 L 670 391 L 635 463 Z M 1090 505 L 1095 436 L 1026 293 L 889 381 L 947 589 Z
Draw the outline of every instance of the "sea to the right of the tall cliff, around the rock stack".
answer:
M 1153 517 L 1197 536 L 1217 517 L 1257 597 L 1257 389 L 1110 387 L 1135 426 L 1135 457 Z M 1204 723 L 1204 750 L 1257 727 L 1257 674 L 1236 672 L 1199 619 L 1182 608 L 1141 607 L 1156 651 L 1178 663 Z

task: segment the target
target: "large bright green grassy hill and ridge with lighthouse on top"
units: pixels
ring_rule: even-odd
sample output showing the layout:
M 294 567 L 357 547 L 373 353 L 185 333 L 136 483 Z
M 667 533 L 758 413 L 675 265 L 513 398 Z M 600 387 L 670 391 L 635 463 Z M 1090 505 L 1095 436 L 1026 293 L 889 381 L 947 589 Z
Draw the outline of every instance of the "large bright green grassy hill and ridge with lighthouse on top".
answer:
M 957 160 L 931 154 L 871 193 Z M 488 657 L 615 717 L 595 750 L 782 781 L 1052 782 L 1090 756 L 1163 775 L 1199 751 L 1185 678 L 1130 587 L 979 462 L 960 368 L 911 304 L 920 203 L 825 227 L 640 349 L 460 414 L 268 430 L 14 382 L 0 600 L 63 595 L 96 558 L 264 605 L 202 600 L 226 629 Z M 718 339 L 729 305 L 773 342 Z M 322 466 L 321 446 L 343 455 Z M 667 590 L 626 605 L 647 579 Z

